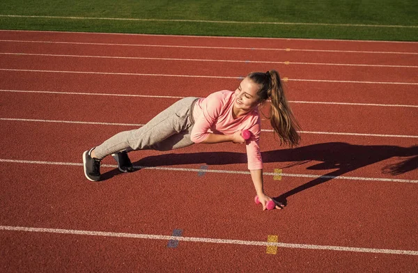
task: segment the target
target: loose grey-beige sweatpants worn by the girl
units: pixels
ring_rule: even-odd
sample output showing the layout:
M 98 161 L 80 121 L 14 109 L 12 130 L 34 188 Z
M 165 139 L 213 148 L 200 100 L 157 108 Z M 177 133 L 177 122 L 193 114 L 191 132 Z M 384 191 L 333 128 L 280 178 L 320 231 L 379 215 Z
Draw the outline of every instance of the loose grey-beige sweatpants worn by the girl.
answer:
M 194 97 L 179 100 L 143 127 L 115 134 L 95 148 L 95 156 L 103 159 L 121 150 L 173 150 L 192 145 L 190 132 L 196 100 Z

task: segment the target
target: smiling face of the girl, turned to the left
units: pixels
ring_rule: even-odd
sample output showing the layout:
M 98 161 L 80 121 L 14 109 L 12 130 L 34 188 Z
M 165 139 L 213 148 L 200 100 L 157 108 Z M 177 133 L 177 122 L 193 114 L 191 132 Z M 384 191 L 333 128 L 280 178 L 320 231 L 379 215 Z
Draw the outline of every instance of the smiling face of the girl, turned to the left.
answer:
M 235 90 L 234 107 L 244 111 L 250 111 L 258 104 L 258 89 L 260 86 L 255 84 L 251 79 L 246 77 L 240 82 L 240 85 Z

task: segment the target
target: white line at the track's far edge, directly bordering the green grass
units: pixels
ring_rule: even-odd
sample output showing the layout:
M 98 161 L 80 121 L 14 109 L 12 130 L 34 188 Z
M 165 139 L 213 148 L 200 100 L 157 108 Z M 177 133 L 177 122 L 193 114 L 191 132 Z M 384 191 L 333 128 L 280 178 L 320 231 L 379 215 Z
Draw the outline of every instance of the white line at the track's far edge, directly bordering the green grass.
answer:
M 28 31 L 28 30 L 9 30 L 0 29 L 0 32 L 29 32 L 29 33 L 59 33 L 63 31 Z M 412 41 L 388 41 L 388 40 L 338 40 L 338 39 L 315 39 L 315 38 L 270 38 L 270 37 L 235 37 L 235 36 L 193 36 L 193 35 L 175 35 L 175 34 L 144 34 L 144 33 L 108 33 L 108 32 L 86 32 L 86 31 L 65 31 L 65 33 L 88 34 L 89 36 L 147 36 L 147 37 L 180 37 L 180 38 L 211 38 L 211 39 L 231 39 L 231 40 L 302 40 L 302 41 L 324 41 L 324 42 L 373 42 L 373 43 L 405 43 L 415 44 Z

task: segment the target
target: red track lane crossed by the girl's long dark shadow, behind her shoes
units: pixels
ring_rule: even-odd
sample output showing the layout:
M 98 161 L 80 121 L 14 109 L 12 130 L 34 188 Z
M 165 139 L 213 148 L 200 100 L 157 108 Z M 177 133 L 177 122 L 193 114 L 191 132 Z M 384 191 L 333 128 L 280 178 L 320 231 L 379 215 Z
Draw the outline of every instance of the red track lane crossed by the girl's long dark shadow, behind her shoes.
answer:
M 8 128 L 1 134 L 1 146 L 8 147 L 1 159 L 47 162 L 81 162 L 84 150 L 99 145 L 118 132 L 134 129 L 126 126 L 4 120 L 1 124 Z M 30 138 L 27 137 L 28 132 Z M 42 153 L 39 153 L 39 147 L 42 147 Z M 263 169 L 268 173 L 282 169 L 284 173 L 316 176 L 417 179 L 417 169 L 413 165 L 417 157 L 415 139 L 302 134 L 301 146 L 290 149 L 280 147 L 272 134 L 263 134 L 261 153 Z M 365 157 L 365 154 L 369 156 Z M 230 170 L 248 171 L 245 147 L 231 143 L 213 146 L 198 144 L 166 153 L 142 150 L 132 153 L 130 157 L 138 166 L 200 169 L 202 165 L 208 165 L 210 169 L 224 170 L 225 173 Z M 114 164 L 114 161 L 107 157 L 103 164 Z M 268 176 L 268 179 L 272 180 L 273 177 Z M 345 181 L 350 183 L 350 180 Z M 376 183 L 380 183 L 379 180 Z

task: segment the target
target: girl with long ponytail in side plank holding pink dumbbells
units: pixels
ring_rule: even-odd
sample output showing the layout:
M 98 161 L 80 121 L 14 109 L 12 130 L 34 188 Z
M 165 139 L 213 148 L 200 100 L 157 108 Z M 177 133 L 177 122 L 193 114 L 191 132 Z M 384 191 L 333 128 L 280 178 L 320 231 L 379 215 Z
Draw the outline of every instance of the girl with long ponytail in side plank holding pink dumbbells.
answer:
M 144 127 L 120 132 L 100 146 L 83 154 L 84 174 L 88 180 L 100 180 L 100 160 L 112 155 L 123 172 L 133 171 L 127 153 L 132 150 L 173 150 L 193 143 L 246 143 L 248 169 L 260 203 L 271 201 L 263 189 L 263 162 L 260 141 L 261 118 L 258 107 L 270 99 L 270 123 L 280 144 L 300 142 L 299 125 L 288 106 L 279 73 L 251 72 L 235 90 L 219 91 L 207 98 L 184 98 L 162 111 Z M 245 141 L 242 130 L 251 137 Z M 281 209 L 278 201 L 276 208 Z

